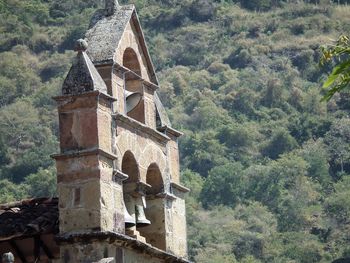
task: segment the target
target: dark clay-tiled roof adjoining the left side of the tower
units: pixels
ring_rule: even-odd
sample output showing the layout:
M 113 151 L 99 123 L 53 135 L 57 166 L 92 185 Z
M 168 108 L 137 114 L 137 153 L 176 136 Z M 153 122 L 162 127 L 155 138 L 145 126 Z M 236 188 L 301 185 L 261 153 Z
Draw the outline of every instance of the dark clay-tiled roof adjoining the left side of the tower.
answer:
M 0 205 L 0 241 L 58 233 L 58 198 Z

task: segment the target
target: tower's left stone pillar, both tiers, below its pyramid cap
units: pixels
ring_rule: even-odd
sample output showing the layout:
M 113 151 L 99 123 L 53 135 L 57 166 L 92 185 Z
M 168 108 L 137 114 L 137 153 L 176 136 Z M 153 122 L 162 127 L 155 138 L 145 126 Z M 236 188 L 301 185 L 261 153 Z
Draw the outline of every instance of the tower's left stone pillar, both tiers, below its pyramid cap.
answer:
M 59 99 L 56 156 L 60 232 L 124 232 L 121 182 L 113 178 L 111 101 L 97 93 Z

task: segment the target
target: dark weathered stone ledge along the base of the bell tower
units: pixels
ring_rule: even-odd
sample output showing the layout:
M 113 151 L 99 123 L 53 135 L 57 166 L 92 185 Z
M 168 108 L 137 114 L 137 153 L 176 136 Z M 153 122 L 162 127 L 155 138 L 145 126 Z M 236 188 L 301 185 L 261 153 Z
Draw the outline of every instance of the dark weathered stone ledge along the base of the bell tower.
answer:
M 91 243 L 94 241 L 107 241 L 109 244 L 116 244 L 117 246 L 126 249 L 136 250 L 139 253 L 148 254 L 153 257 L 164 260 L 167 263 L 190 263 L 185 258 L 175 256 L 169 252 L 163 251 L 159 248 L 153 247 L 150 244 L 143 243 L 135 238 L 124 234 L 110 232 L 110 231 L 89 231 L 89 232 L 70 232 L 66 234 L 56 235 L 55 240 L 58 244 L 77 244 L 77 243 Z

